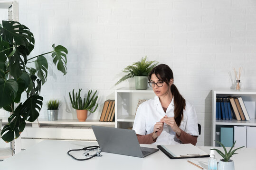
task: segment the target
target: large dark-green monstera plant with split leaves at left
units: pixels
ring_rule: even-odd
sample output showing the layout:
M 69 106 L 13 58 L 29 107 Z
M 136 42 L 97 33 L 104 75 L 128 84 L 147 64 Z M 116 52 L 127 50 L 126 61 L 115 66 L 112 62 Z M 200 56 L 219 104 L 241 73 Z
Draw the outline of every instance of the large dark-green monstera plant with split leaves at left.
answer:
M 1 131 L 1 138 L 5 142 L 19 137 L 25 128 L 25 121 L 33 122 L 39 116 L 43 105 L 43 97 L 39 93 L 41 86 L 47 80 L 48 69 L 48 61 L 44 55 L 50 53 L 57 69 L 66 74 L 67 49 L 65 47 L 53 44 L 52 51 L 30 57 L 29 54 L 34 49 L 34 45 L 34 35 L 28 27 L 15 21 L 2 21 L 0 25 L 0 108 L 10 112 L 9 123 Z M 21 101 L 22 93 L 27 94 L 25 101 Z

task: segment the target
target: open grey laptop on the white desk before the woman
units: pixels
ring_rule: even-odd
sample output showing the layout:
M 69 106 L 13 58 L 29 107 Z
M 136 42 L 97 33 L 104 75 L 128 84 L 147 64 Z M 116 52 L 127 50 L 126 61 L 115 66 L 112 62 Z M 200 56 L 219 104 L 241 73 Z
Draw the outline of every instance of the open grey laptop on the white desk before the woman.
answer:
M 159 149 L 141 147 L 134 130 L 92 125 L 102 152 L 144 158 Z

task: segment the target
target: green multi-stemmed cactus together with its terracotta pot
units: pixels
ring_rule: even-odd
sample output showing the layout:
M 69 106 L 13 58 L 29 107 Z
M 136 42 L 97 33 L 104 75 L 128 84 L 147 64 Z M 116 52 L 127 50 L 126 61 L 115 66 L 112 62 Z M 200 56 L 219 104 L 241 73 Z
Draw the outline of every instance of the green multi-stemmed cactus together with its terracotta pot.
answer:
M 70 102 L 72 104 L 72 107 L 76 109 L 77 119 L 79 121 L 85 121 L 87 119 L 88 111 L 90 111 L 91 113 L 94 113 L 98 107 L 98 103 L 96 104 L 96 101 L 98 99 L 98 96 L 96 95 L 97 91 L 91 96 L 93 90 L 89 90 L 86 98 L 84 99 L 82 99 L 82 97 L 80 96 L 82 89 L 79 89 L 78 94 L 76 93 L 76 95 L 74 91 L 75 89 L 73 89 L 72 91 L 72 96 L 70 92 L 68 92 Z

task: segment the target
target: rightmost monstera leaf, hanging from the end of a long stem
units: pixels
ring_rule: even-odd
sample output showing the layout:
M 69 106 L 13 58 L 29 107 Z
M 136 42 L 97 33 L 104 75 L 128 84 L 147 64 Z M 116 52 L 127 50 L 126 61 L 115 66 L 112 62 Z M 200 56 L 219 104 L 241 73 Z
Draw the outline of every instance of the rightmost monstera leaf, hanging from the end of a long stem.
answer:
M 52 53 L 53 62 L 56 65 L 57 69 L 66 75 L 66 54 L 67 49 L 61 45 L 55 47 L 52 45 L 54 52 Z M 66 53 L 66 54 L 65 54 Z

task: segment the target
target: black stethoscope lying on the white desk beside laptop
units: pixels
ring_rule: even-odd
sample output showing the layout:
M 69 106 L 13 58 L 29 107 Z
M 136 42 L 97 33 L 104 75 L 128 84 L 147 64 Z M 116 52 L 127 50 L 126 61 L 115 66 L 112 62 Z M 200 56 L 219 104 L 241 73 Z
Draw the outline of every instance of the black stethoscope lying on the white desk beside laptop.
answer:
M 90 151 L 95 151 L 95 150 L 97 150 L 95 154 L 93 154 L 93 155 L 90 155 L 90 154 L 89 154 Z M 88 157 L 88 158 L 85 158 L 85 159 L 77 159 L 77 158 L 75 158 L 73 155 L 70 154 L 70 152 L 73 152 L 73 151 L 85 151 L 84 155 L 85 155 L 85 157 Z M 71 156 L 72 158 L 74 158 L 74 159 L 77 160 L 77 161 L 85 161 L 85 160 L 91 159 L 91 158 L 93 158 L 93 157 L 95 157 L 95 156 L 101 157 L 102 155 L 101 155 L 100 153 L 101 153 L 101 149 L 100 149 L 99 146 L 88 146 L 88 147 L 84 147 L 84 148 L 82 148 L 82 149 L 71 149 L 71 150 L 69 150 L 69 151 L 67 152 L 67 154 L 68 154 L 69 156 Z

